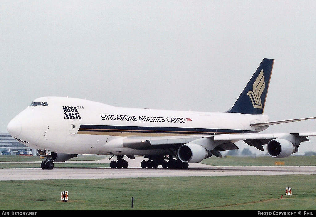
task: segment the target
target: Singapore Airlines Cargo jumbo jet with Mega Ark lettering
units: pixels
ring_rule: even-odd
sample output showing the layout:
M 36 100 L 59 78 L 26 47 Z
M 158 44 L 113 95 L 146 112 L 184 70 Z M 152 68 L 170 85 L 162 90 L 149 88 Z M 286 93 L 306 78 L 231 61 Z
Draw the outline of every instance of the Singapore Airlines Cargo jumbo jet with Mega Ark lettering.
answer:
M 118 108 L 70 97 L 40 97 L 8 124 L 19 142 L 45 156 L 42 169 L 78 154 L 117 157 L 112 168 L 127 168 L 124 157 L 144 155 L 143 168 L 188 168 L 189 163 L 222 157 L 236 141 L 271 157 L 298 151 L 309 133 L 259 133 L 269 125 L 311 118 L 270 121 L 263 114 L 274 60 L 264 59 L 234 106 L 223 113 Z

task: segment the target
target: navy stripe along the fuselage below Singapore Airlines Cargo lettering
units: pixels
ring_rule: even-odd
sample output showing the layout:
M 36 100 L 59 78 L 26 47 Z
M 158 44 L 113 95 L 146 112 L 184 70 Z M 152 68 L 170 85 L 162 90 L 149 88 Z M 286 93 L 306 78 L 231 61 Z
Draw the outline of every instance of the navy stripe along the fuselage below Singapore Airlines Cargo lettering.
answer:
M 207 129 L 188 127 L 157 127 L 157 126 L 112 126 L 112 125 L 81 125 L 78 132 L 143 132 L 143 133 L 252 133 L 252 130 Z

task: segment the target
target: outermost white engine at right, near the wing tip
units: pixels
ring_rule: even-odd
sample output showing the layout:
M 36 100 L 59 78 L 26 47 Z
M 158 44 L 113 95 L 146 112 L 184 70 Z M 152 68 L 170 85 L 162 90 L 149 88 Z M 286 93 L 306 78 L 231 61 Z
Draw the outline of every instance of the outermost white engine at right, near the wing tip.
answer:
M 276 138 L 268 142 L 267 152 L 271 157 L 288 157 L 298 152 L 298 147 L 289 140 Z

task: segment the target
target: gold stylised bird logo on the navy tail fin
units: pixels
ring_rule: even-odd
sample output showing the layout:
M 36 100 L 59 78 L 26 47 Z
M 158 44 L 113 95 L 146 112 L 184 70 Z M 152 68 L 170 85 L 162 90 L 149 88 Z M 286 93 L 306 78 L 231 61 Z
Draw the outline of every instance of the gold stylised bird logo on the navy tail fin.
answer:
M 261 95 L 265 88 L 263 70 L 259 73 L 257 79 L 252 85 L 252 91 L 248 91 L 247 96 L 250 97 L 253 108 L 262 108 Z

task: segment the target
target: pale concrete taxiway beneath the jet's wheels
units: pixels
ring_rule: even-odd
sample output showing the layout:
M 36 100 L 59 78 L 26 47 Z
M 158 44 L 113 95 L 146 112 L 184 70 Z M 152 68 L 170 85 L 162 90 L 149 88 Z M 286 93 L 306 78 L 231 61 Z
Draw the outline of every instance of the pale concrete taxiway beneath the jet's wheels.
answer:
M 240 176 L 240 175 L 289 175 L 289 174 L 316 174 L 316 166 L 252 166 L 230 167 L 209 166 L 201 163 L 189 164 L 188 169 L 143 169 L 140 162 L 143 157 L 129 161 L 127 169 L 112 168 L 54 168 L 52 170 L 33 169 L 0 169 L 0 180 L 41 180 L 41 179 L 111 179 L 135 177 L 179 177 L 179 176 Z M 100 162 L 100 161 L 66 161 L 65 163 Z M 34 162 L 1 162 L 1 163 L 34 163 Z M 56 163 L 57 164 L 57 163 Z

